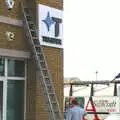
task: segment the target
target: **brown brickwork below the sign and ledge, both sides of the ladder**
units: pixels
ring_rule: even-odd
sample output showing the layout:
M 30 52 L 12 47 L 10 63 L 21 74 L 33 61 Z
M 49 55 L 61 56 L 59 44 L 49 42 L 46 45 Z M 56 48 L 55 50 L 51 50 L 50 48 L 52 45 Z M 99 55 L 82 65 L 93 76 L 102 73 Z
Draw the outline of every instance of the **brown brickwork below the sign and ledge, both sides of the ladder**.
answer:
M 63 112 L 63 50 L 43 47 L 53 86 L 57 93 L 61 111 Z M 48 120 L 39 78 L 35 76 L 36 68 L 32 60 L 28 61 L 27 79 L 27 120 Z

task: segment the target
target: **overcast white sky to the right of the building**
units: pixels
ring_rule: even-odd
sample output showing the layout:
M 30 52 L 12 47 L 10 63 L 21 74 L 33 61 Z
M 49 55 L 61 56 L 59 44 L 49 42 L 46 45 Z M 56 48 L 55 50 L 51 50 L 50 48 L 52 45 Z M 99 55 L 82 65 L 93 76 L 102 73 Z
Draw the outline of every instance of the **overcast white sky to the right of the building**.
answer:
M 64 0 L 64 76 L 111 80 L 120 72 L 120 0 Z

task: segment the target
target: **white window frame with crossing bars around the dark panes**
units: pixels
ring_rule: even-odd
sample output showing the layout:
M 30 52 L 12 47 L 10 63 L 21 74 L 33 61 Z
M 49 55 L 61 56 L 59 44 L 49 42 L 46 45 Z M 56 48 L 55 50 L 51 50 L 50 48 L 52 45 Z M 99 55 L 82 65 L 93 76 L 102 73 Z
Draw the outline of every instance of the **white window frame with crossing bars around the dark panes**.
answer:
M 8 60 L 19 60 L 24 61 L 24 77 L 10 77 L 8 76 Z M 18 58 L 5 58 L 4 57 L 4 76 L 0 76 L 0 81 L 3 81 L 3 120 L 7 120 L 7 81 L 8 80 L 24 80 L 24 120 L 26 111 L 26 75 L 27 75 L 27 61 L 25 59 Z

